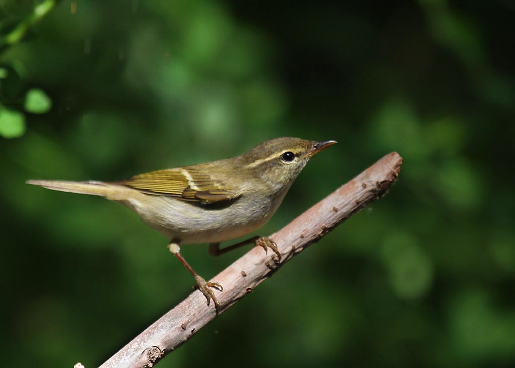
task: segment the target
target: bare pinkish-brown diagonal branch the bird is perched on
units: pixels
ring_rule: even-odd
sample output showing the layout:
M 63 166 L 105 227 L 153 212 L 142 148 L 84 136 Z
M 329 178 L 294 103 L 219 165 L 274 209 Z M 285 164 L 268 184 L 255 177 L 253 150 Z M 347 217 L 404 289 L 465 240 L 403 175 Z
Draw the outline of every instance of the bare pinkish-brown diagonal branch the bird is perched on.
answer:
M 284 263 L 317 242 L 342 221 L 385 195 L 397 179 L 402 157 L 392 152 L 334 193 L 304 212 L 297 219 L 272 234 L 281 253 L 281 262 L 272 252 L 265 255 L 261 247 L 252 248 L 212 281 L 224 286 L 217 295 L 220 313 L 252 292 Z M 205 304 L 198 291 L 190 294 L 179 305 L 153 323 L 138 337 L 100 368 L 151 367 L 165 355 L 190 339 L 216 317 L 213 305 Z

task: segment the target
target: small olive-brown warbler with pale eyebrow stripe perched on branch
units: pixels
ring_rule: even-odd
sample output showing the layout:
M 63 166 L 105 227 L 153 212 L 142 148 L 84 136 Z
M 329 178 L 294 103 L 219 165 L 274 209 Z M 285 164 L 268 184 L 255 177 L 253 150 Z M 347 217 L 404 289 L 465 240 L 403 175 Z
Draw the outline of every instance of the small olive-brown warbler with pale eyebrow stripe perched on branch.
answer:
M 276 212 L 307 161 L 335 141 L 313 142 L 277 138 L 233 158 L 180 168 L 152 171 L 126 180 L 27 180 L 28 184 L 62 192 L 92 194 L 114 200 L 136 212 L 151 227 L 171 239 L 168 247 L 195 277 L 199 290 L 218 303 L 213 291 L 222 287 L 198 276 L 179 253 L 179 244 L 211 243 L 218 255 L 250 242 L 281 254 L 269 238 L 219 249 L 219 243 L 247 235 Z

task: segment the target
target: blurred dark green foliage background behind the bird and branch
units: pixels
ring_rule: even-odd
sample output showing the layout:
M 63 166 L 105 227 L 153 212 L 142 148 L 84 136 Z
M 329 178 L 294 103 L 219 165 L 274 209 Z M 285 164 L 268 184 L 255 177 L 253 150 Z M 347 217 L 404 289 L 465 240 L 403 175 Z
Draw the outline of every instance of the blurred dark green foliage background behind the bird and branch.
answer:
M 193 284 L 130 211 L 26 179 L 113 180 L 295 136 L 340 144 L 262 235 L 391 150 L 400 179 L 160 366 L 514 366 L 514 15 L 501 0 L 0 0 L 0 353 L 94 367 Z M 243 252 L 183 249 L 206 278 Z

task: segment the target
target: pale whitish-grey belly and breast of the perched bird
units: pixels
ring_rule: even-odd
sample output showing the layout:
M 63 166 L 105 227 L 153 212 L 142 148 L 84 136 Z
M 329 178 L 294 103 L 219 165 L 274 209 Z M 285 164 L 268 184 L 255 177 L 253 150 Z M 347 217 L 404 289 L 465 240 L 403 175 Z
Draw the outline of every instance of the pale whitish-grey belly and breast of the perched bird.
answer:
M 263 226 L 279 207 L 282 197 L 262 198 L 252 203 L 242 197 L 221 207 L 145 195 L 123 204 L 170 240 L 181 244 L 218 243 L 243 237 Z

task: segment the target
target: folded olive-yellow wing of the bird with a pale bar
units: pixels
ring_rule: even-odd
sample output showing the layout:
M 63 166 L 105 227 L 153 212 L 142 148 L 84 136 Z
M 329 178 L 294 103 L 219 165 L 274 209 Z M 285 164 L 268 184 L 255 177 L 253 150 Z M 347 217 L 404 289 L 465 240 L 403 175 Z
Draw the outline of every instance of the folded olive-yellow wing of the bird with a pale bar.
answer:
M 222 180 L 187 166 L 135 175 L 117 183 L 142 193 L 167 195 L 201 204 L 219 203 L 239 196 L 228 190 Z

